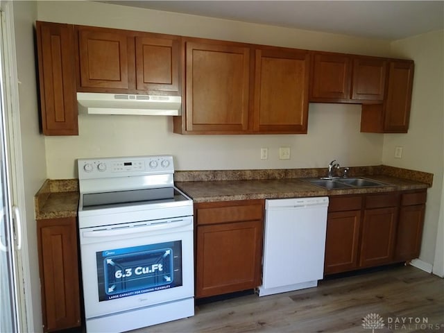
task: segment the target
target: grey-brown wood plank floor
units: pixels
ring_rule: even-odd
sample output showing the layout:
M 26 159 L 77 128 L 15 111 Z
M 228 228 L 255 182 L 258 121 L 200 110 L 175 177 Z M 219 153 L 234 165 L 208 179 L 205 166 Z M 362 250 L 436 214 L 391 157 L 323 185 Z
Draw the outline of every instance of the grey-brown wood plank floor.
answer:
M 384 327 L 373 317 L 364 328 L 369 314 Z M 133 331 L 155 332 L 444 332 L 444 279 L 413 266 L 386 268 L 317 288 L 198 305 L 194 317 Z

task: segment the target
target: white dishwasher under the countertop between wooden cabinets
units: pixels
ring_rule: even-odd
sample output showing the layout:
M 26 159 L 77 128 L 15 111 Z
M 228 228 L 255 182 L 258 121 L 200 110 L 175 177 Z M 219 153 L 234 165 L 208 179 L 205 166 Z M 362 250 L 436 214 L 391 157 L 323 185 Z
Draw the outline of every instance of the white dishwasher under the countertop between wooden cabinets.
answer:
M 316 287 L 323 278 L 328 197 L 265 200 L 259 296 Z

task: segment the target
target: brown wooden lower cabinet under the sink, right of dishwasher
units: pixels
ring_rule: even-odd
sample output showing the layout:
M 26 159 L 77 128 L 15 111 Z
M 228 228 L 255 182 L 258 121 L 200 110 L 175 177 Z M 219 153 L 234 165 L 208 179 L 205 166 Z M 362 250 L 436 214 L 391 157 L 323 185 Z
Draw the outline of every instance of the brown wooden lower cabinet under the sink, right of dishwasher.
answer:
M 417 258 L 426 190 L 332 196 L 325 275 Z

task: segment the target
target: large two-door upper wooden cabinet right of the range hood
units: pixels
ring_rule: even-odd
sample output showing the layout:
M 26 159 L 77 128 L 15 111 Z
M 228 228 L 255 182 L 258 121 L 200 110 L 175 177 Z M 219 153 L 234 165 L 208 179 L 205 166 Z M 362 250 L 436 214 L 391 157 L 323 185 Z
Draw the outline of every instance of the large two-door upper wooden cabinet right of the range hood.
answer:
M 189 38 L 182 134 L 307 133 L 309 53 Z

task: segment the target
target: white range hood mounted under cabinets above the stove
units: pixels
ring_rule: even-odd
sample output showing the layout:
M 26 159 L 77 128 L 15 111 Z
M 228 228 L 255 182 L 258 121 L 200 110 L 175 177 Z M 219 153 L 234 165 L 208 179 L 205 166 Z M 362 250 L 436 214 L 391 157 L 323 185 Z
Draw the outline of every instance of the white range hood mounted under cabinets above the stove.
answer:
M 180 96 L 77 93 L 78 112 L 86 114 L 137 114 L 180 116 Z

